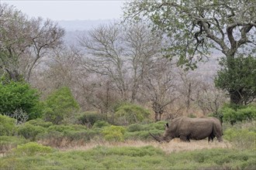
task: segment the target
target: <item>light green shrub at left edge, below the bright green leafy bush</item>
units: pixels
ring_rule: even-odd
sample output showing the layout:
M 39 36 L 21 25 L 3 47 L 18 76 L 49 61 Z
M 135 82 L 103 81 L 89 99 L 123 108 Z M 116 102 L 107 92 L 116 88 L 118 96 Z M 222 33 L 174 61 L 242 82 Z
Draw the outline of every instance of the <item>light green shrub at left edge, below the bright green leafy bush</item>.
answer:
M 16 120 L 0 114 L 0 136 L 10 136 L 16 131 Z

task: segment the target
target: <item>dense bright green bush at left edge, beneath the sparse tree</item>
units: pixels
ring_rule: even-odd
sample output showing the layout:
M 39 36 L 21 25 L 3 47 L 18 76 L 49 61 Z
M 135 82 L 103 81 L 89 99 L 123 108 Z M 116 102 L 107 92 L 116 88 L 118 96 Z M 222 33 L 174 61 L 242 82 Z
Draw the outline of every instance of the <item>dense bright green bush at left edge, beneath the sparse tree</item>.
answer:
M 35 119 L 42 116 L 41 109 L 39 95 L 28 83 L 0 82 L 0 114 L 12 115 L 16 110 L 22 110 L 29 119 Z

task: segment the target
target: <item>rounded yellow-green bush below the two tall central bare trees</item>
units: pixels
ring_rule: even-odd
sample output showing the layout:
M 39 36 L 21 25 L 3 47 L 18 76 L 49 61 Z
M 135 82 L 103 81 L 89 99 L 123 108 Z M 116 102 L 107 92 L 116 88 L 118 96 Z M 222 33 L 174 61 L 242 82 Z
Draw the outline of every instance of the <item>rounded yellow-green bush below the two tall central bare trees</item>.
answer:
M 147 119 L 149 115 L 149 110 L 136 104 L 122 104 L 116 108 L 115 123 L 119 125 L 139 123 Z

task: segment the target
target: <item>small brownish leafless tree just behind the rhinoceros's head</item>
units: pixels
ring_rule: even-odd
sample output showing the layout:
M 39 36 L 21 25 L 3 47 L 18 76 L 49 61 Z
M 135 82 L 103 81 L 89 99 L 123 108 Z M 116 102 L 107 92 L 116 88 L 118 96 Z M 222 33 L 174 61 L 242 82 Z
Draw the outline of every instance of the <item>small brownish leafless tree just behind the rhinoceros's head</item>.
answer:
M 155 121 L 161 121 L 165 108 L 177 99 L 173 64 L 168 59 L 155 60 L 154 68 L 144 78 L 143 93 L 150 98 Z

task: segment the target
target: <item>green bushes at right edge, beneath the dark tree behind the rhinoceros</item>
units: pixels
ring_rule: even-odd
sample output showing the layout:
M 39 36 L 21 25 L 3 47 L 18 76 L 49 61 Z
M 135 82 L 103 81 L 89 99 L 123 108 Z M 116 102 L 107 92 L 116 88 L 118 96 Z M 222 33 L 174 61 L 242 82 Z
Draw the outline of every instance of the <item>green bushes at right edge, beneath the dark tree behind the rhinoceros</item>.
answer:
M 256 107 L 254 105 L 237 107 L 236 109 L 224 106 L 220 112 L 223 114 L 223 121 L 230 122 L 230 124 L 235 124 L 237 121 L 256 120 Z

